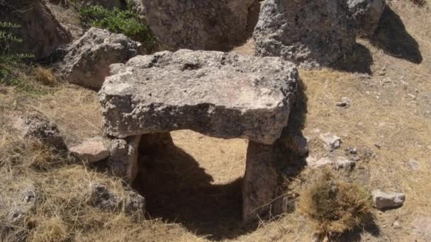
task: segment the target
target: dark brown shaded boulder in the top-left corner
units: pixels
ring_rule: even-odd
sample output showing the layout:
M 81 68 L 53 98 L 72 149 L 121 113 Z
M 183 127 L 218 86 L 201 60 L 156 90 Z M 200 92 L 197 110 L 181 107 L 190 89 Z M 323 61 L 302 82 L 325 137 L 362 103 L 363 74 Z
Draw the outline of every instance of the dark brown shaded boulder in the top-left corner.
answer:
M 21 25 L 9 31 L 22 42 L 9 43 L 13 52 L 34 54 L 36 60 L 47 57 L 53 50 L 67 44 L 70 37 L 41 0 L 0 1 L 2 22 Z M 0 42 L 0 50 L 4 46 Z

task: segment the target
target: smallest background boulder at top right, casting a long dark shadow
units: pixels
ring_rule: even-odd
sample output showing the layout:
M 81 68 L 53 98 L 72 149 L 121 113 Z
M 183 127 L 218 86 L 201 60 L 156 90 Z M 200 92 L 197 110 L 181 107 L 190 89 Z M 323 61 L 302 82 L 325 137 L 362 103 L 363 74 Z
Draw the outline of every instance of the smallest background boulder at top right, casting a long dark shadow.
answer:
M 386 7 L 385 0 L 347 0 L 347 5 L 357 23 L 359 34 L 373 35 Z

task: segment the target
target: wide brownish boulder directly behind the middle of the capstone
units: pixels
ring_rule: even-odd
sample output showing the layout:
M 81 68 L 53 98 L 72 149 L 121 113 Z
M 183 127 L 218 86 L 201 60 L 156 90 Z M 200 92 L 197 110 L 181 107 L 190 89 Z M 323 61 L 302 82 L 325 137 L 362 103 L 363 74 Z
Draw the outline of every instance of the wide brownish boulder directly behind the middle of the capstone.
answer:
M 147 24 L 169 50 L 226 51 L 247 39 L 256 0 L 145 0 Z

